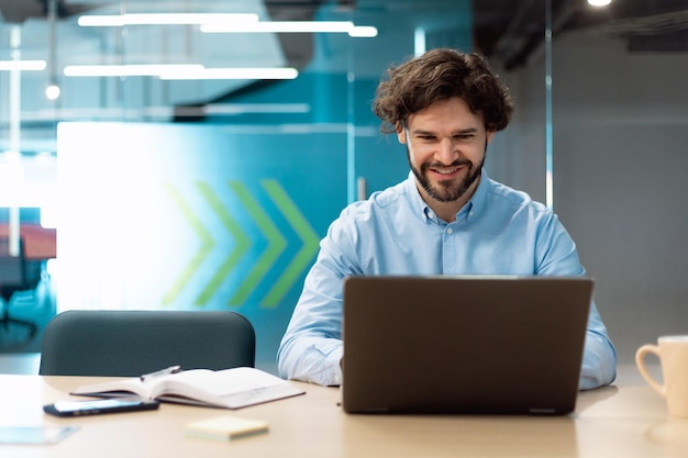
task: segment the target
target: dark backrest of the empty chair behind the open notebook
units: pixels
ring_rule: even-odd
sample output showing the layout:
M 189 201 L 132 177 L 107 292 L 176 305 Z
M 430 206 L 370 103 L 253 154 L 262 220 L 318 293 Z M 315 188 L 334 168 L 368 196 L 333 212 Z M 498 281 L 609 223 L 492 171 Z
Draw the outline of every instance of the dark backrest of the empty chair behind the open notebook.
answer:
M 46 326 L 42 376 L 137 377 L 166 367 L 255 365 L 255 329 L 232 311 L 73 310 Z

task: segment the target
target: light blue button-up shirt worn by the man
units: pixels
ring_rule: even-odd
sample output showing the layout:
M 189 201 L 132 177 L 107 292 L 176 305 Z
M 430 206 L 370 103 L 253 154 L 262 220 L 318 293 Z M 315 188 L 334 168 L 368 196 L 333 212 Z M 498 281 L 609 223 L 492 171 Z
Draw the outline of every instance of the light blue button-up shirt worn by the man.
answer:
M 576 245 L 557 216 L 485 170 L 470 201 L 446 223 L 421 199 L 415 178 L 342 211 L 315 264 L 277 353 L 284 378 L 342 382 L 342 295 L 346 276 L 584 276 Z M 580 389 L 609 384 L 617 355 L 591 303 Z

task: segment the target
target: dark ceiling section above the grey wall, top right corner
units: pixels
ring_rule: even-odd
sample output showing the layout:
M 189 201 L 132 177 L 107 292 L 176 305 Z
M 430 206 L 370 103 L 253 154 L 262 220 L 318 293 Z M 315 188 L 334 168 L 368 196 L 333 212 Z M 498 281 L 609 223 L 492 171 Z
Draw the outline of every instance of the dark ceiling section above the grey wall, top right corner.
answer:
M 507 69 L 526 65 L 544 44 L 547 15 L 553 40 L 588 30 L 624 38 L 630 52 L 688 52 L 686 0 L 612 0 L 603 8 L 587 0 L 474 0 L 475 46 Z

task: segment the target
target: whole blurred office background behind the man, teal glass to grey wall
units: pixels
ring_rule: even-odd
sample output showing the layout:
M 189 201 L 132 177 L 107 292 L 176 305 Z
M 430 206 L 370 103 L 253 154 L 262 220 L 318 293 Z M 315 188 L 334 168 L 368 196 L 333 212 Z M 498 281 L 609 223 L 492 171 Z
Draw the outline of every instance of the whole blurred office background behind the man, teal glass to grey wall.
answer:
M 22 234 L 40 270 L 7 309 L 38 332 L 0 326 L 5 355 L 35 356 L 45 323 L 69 309 L 235 310 L 273 370 L 329 223 L 408 172 L 370 112 L 380 76 L 439 46 L 486 54 L 510 86 L 517 112 L 488 172 L 559 215 L 620 362 L 688 333 L 681 0 L 0 0 L 0 235 Z

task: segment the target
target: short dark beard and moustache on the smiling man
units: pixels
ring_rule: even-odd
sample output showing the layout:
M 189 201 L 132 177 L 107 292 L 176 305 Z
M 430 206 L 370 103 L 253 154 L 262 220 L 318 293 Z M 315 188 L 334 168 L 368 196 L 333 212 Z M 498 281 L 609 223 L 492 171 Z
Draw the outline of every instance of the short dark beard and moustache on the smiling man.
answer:
M 487 145 L 486 145 L 487 146 Z M 486 147 L 487 150 L 487 147 Z M 409 159 L 409 167 L 413 171 L 415 179 L 420 183 L 420 186 L 428 192 L 432 199 L 440 202 L 455 202 L 460 199 L 467 191 L 470 189 L 473 183 L 482 175 L 482 166 L 485 165 L 485 156 L 482 155 L 482 160 L 479 164 L 473 164 L 468 159 L 456 159 L 453 161 L 450 167 L 467 167 L 467 175 L 465 178 L 460 178 L 457 180 L 441 180 L 436 185 L 430 182 L 428 178 L 428 169 L 433 167 L 446 167 L 442 164 L 430 164 L 425 163 L 421 165 L 421 169 L 413 167 L 411 164 L 411 152 L 407 147 L 407 156 Z

